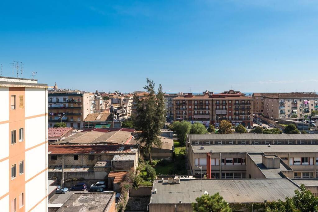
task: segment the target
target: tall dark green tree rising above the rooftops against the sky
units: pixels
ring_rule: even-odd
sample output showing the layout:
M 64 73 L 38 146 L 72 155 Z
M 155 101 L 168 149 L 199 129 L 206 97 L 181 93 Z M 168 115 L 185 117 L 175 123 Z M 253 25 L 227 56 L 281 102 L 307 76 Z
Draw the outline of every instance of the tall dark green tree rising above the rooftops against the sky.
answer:
M 142 131 L 137 139 L 141 143 L 145 143 L 145 148 L 152 163 L 152 146 L 161 147 L 162 145 L 160 134 L 166 121 L 166 113 L 164 111 L 162 86 L 159 85 L 156 92 L 154 81 L 147 78 L 147 85 L 144 89 L 148 93 L 144 98 L 139 99 L 136 93 L 134 94 L 136 115 L 133 116 L 133 120 L 136 129 Z

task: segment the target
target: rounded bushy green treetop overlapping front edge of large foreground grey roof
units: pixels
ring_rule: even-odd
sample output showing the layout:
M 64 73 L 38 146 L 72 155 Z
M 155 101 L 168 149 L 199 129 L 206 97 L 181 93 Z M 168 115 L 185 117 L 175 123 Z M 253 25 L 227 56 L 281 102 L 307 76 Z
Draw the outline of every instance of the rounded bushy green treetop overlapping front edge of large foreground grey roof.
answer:
M 191 203 L 194 212 L 230 212 L 232 209 L 219 193 L 204 194 Z

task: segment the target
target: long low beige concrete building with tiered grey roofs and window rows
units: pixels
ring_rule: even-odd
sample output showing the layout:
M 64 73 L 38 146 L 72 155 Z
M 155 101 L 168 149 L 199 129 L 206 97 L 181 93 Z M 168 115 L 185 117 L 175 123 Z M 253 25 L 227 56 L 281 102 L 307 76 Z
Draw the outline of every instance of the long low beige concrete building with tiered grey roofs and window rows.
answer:
M 317 134 L 188 135 L 186 150 L 193 175 L 210 165 L 212 178 L 318 178 Z

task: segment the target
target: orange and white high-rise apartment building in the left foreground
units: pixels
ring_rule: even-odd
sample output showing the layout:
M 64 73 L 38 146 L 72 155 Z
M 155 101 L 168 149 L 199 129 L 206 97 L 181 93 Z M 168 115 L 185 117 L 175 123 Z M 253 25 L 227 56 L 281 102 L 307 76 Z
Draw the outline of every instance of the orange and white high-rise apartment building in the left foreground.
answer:
M 47 211 L 47 88 L 0 77 L 1 211 Z

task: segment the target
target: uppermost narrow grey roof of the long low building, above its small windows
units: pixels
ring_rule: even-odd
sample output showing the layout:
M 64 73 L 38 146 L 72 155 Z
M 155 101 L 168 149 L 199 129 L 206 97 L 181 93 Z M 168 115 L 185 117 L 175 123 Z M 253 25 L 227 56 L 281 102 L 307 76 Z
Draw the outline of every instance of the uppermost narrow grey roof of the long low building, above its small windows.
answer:
M 187 135 L 189 140 L 280 140 L 280 139 L 317 139 L 318 134 L 257 134 L 257 133 L 233 133 L 233 134 L 204 134 Z

